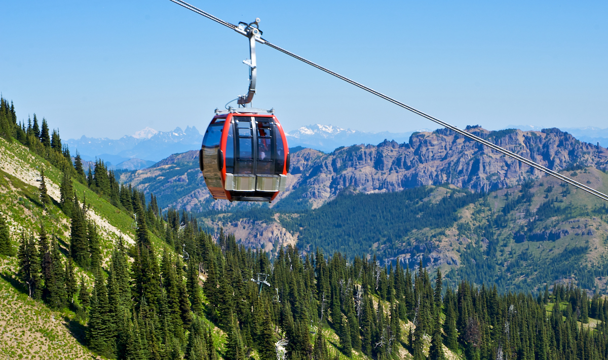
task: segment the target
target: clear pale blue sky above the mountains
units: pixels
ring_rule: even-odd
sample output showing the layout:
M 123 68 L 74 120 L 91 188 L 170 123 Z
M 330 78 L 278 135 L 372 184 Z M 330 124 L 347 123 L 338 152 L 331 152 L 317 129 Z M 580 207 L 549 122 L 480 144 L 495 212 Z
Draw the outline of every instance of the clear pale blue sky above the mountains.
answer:
M 459 127 L 608 128 L 608 1 L 202 1 Z M 0 91 L 64 139 L 206 128 L 247 89 L 247 39 L 168 0 L 5 1 Z M 286 130 L 436 128 L 258 44 L 254 106 Z

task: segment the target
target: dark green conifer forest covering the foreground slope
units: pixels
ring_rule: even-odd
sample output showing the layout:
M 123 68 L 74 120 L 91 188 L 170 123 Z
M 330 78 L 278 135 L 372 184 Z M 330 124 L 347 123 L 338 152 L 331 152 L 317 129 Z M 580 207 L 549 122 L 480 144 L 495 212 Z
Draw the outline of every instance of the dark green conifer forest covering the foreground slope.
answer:
M 608 299 L 597 292 L 572 283 L 511 292 L 448 282 L 422 261 L 381 265 L 321 246 L 271 255 L 206 230 L 192 213 L 159 209 L 153 194 L 120 184 L 101 159 L 71 154 L 46 119 L 17 122 L 5 99 L 0 136 L 2 146 L 21 144 L 60 174 L 58 200 L 49 196 L 49 170 L 39 171 L 35 190 L 24 185 L 43 214 L 29 231 L 11 230 L 14 215 L 0 204 L 0 260 L 15 264 L 2 279 L 69 318 L 94 358 L 608 359 Z M 91 192 L 108 213 L 129 214 L 133 241 L 104 238 L 93 198 L 84 195 Z M 403 216 L 413 227 L 406 218 L 415 215 Z M 65 234 L 53 225 L 61 221 Z

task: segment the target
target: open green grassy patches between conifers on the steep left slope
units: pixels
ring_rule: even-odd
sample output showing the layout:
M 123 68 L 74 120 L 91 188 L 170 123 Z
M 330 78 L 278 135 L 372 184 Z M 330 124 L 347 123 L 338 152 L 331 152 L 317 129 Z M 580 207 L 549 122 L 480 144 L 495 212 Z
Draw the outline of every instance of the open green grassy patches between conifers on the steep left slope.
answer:
M 54 201 L 47 210 L 39 198 L 40 168 L 44 169 Z M 37 236 L 42 223 L 50 236 L 58 238 L 63 256 L 67 254 L 69 218 L 57 207 L 61 177 L 60 170 L 26 147 L 0 139 L 0 212 L 10 226 L 15 247 L 22 233 Z M 83 184 L 74 182 L 74 188 L 80 201 L 85 200 L 90 207 L 88 216 L 98 226 L 105 257 L 120 236 L 127 241 L 134 237 L 133 219 L 128 214 Z M 154 235 L 153 241 L 161 246 L 161 240 Z M 16 257 L 0 258 L 0 354 L 10 358 L 91 358 L 92 353 L 78 342 L 83 341 L 83 325 L 73 313 L 51 311 L 42 302 L 27 297 L 15 278 L 17 267 Z M 76 276 L 84 276 L 92 285 L 90 273 L 77 268 Z

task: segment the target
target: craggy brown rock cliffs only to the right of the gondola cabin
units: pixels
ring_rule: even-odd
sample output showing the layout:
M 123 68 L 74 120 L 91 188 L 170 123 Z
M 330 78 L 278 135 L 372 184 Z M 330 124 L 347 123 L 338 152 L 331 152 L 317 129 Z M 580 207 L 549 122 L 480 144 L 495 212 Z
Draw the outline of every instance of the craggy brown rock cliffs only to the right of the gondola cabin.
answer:
M 608 150 L 580 142 L 558 129 L 488 131 L 468 126 L 466 130 L 553 170 L 578 165 L 608 168 Z M 330 154 L 299 151 L 292 156 L 292 175 L 299 178 L 294 189 L 305 189 L 297 195 L 317 207 L 349 187 L 366 193 L 396 192 L 448 183 L 490 192 L 543 173 L 441 129 L 415 133 L 404 144 L 385 140 L 377 146 L 354 145 Z M 288 195 L 286 192 L 282 197 Z

